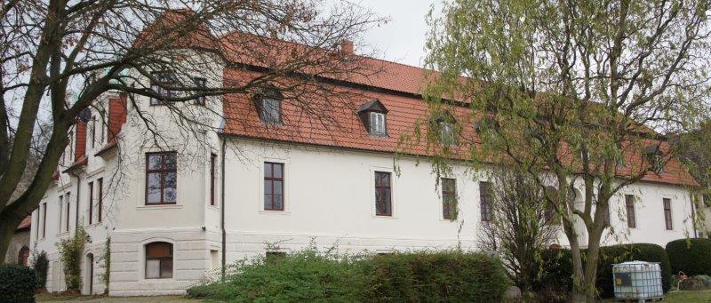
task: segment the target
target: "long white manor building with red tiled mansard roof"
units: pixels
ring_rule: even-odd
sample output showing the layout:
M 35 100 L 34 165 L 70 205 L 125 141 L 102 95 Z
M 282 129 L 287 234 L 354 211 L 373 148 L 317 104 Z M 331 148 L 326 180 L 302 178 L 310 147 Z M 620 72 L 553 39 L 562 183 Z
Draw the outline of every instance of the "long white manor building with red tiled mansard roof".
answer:
M 348 46 L 344 52 L 352 52 Z M 136 96 L 140 110 L 155 117 L 159 132 L 170 139 L 170 148 L 157 149 L 124 92 L 97 100 L 106 108 L 108 127 L 99 112 L 76 124 L 64 166 L 32 214 L 30 247 L 47 251 L 50 259 L 47 290 L 65 289 L 56 243 L 76 227 L 88 233 L 83 293 L 105 291 L 100 256 L 110 237 L 112 296 L 183 293 L 223 261 L 275 246 L 298 250 L 313 238 L 319 246 L 337 243 L 344 251 L 457 245 L 476 250 L 476 228 L 487 218 L 485 174 L 455 162 L 444 186 L 435 187 L 421 155 L 394 160 L 400 135 L 427 115 L 420 94 L 425 70 L 364 60 L 386 73 L 334 84 L 363 98 L 353 101 L 331 132 L 323 132 L 328 125 L 303 119 L 278 94 L 256 102 L 231 94 L 177 105 L 213 110 L 204 116 L 220 129 L 185 140 L 160 100 Z M 217 56 L 213 62 L 226 77 L 244 72 Z M 226 79 L 204 81 L 218 86 Z M 662 173 L 625 188 L 610 218 L 624 236 L 607 236 L 605 244 L 665 245 L 695 236 L 689 189 L 694 184 L 671 161 Z M 459 201 L 456 218 L 443 207 L 451 196 Z M 580 233 L 586 236 L 582 228 Z M 565 241 L 562 235 L 563 246 Z

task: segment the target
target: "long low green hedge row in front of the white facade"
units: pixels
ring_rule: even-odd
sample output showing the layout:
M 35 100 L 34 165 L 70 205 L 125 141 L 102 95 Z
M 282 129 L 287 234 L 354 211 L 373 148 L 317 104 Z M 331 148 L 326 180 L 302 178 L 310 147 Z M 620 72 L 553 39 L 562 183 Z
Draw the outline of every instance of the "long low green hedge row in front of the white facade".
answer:
M 225 282 L 206 282 L 188 296 L 236 302 L 476 301 L 499 302 L 510 283 L 498 260 L 443 251 L 363 258 L 297 251 L 244 260 Z

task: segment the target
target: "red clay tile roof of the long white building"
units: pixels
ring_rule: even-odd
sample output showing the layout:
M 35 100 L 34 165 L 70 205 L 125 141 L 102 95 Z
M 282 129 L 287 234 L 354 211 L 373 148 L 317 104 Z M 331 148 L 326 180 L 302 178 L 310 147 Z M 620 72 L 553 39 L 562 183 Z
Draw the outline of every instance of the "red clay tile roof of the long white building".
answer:
M 189 15 L 185 12 L 177 14 L 179 20 Z M 164 21 L 163 21 L 164 22 Z M 226 86 L 230 82 L 243 83 L 259 76 L 259 72 L 241 66 L 256 68 L 271 68 L 294 61 L 294 56 L 301 60 L 312 62 L 328 62 L 325 64 L 352 64 L 361 70 L 377 70 L 375 74 L 351 75 L 321 74 L 317 68 L 304 67 L 303 73 L 313 73 L 325 78 L 337 80 L 339 84 L 332 84 L 332 96 L 314 94 L 307 107 L 303 103 L 298 106 L 292 100 L 283 100 L 283 125 L 268 125 L 260 122 L 257 108 L 252 97 L 248 94 L 227 94 L 223 99 L 226 123 L 223 132 L 259 140 L 281 140 L 313 144 L 334 148 L 355 148 L 378 152 L 403 152 L 411 155 L 428 155 L 427 143 L 414 142 L 408 148 L 401 148 L 400 138 L 403 135 L 412 135 L 416 124 L 427 119 L 429 108 L 421 100 L 421 92 L 428 80 L 435 79 L 438 74 L 424 68 L 411 67 L 395 62 L 377 60 L 362 56 L 354 56 L 352 60 L 329 60 L 333 52 L 324 49 L 308 48 L 301 44 L 269 39 L 260 36 L 245 36 L 245 34 L 230 34 L 220 39 L 214 38 L 206 29 L 199 28 L 198 33 L 190 41 L 182 40 L 178 43 L 182 47 L 195 47 L 196 41 L 204 41 L 203 47 L 215 47 L 223 58 L 233 63 L 224 69 Z M 213 42 L 215 41 L 215 42 Z M 255 45 L 252 45 L 255 44 Z M 266 52 L 251 52 L 256 47 L 268 44 L 284 44 L 289 47 L 268 47 Z M 277 45 L 277 46 L 279 46 Z M 293 52 L 292 50 L 296 50 Z M 251 54 L 255 54 L 251 56 Z M 234 66 L 236 64 L 236 66 Z M 466 80 L 463 80 L 466 81 Z M 233 84 L 234 84 L 233 83 Z M 367 87 L 363 87 L 367 86 Z M 348 98 L 333 96 L 345 94 Z M 303 96 L 301 96 L 303 97 Z M 366 132 L 363 123 L 357 116 L 357 109 L 373 99 L 378 99 L 389 110 L 387 113 L 387 137 L 373 137 Z M 470 138 L 476 143 L 478 137 L 474 131 L 472 114 L 468 108 L 453 107 L 453 116 L 459 121 L 468 122 L 463 125 L 462 137 Z M 425 133 L 427 127 L 419 125 L 419 131 Z M 463 145 L 453 148 L 453 155 L 466 158 L 467 148 Z M 641 163 L 642 157 L 629 153 L 626 168 L 632 170 L 635 163 Z M 627 171 L 628 173 L 629 171 Z M 683 169 L 678 159 L 671 159 L 665 167 L 665 172 L 657 175 L 648 173 L 644 180 L 669 184 L 697 185 L 688 171 Z

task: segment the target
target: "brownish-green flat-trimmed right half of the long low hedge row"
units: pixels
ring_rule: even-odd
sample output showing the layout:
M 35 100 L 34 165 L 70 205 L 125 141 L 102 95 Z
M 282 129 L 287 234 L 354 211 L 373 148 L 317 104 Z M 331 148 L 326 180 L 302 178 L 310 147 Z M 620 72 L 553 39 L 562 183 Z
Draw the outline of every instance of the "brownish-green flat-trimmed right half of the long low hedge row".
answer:
M 509 286 L 498 260 L 461 251 L 375 256 L 365 276 L 368 301 L 498 302 Z

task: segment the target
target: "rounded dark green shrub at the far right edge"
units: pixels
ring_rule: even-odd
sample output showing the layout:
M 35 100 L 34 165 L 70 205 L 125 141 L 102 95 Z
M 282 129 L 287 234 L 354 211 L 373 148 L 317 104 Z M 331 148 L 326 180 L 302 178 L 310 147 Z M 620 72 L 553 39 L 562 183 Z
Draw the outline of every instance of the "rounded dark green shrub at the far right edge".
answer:
M 667 243 L 667 254 L 675 274 L 711 275 L 711 240 L 679 239 Z

